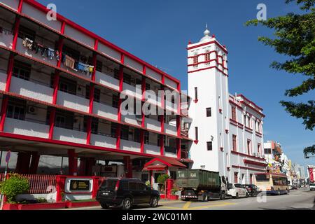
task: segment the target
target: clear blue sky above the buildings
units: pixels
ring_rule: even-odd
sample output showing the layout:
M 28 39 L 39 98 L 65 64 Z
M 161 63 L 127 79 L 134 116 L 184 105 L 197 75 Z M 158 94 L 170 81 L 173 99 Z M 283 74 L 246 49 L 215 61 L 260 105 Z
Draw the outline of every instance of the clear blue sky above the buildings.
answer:
M 258 3 L 267 6 L 267 18 L 297 12 L 295 3 L 284 0 L 184 1 L 120 0 L 76 1 L 40 0 L 55 3 L 57 12 L 99 36 L 158 66 L 181 80 L 187 88 L 188 41 L 202 38 L 206 23 L 211 34 L 229 51 L 230 92 L 242 93 L 264 109 L 265 140 L 279 141 L 293 162 L 315 164 L 304 160 L 302 149 L 315 144 L 315 132 L 307 131 L 302 120 L 289 116 L 279 104 L 284 92 L 298 85 L 304 77 L 269 68 L 286 57 L 276 54 L 257 41 L 258 36 L 272 35 L 265 27 L 245 27 L 255 18 Z M 294 100 L 314 99 L 315 92 Z

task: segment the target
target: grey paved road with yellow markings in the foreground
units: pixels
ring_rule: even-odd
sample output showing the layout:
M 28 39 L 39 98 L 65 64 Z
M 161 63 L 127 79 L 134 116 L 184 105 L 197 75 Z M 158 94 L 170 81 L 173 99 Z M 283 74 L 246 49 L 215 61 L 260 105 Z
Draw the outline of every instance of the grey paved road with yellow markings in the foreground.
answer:
M 269 209 L 315 209 L 315 191 L 307 189 L 291 190 L 289 195 L 248 197 L 229 200 L 211 200 L 209 202 L 167 202 L 160 201 L 158 208 L 148 206 L 134 207 L 134 210 L 269 210 Z M 100 210 L 101 207 L 82 208 L 79 210 Z

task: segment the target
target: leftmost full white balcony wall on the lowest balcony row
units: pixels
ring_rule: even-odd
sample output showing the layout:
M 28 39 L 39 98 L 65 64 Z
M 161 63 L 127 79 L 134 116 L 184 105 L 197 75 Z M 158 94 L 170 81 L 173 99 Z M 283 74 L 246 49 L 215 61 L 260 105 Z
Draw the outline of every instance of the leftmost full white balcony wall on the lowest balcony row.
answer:
M 4 132 L 48 139 L 49 126 L 26 120 L 6 118 Z

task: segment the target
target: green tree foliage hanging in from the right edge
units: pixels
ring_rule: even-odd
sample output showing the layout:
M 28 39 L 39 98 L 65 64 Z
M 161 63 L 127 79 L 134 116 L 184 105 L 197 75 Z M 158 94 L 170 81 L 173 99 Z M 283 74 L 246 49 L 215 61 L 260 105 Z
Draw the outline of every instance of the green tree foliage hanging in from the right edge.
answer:
M 246 22 L 247 26 L 262 25 L 274 29 L 275 38 L 258 37 L 258 41 L 288 56 L 285 62 L 272 62 L 272 68 L 305 77 L 300 85 L 286 90 L 287 97 L 297 97 L 315 89 L 315 0 L 286 0 L 286 3 L 292 1 L 300 6 L 302 13 Z M 302 118 L 307 130 L 314 130 L 315 127 L 315 97 L 311 98 L 308 102 L 280 102 L 291 116 Z M 305 148 L 304 152 L 314 154 L 315 145 Z

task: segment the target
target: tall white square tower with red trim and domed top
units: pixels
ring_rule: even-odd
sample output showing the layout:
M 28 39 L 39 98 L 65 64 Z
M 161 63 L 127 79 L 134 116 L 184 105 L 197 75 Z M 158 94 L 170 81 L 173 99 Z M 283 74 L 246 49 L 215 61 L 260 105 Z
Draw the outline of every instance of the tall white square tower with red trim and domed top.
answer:
M 228 51 L 207 27 L 198 43 L 188 44 L 188 94 L 193 98 L 190 149 L 193 169 L 226 174 L 228 134 Z

